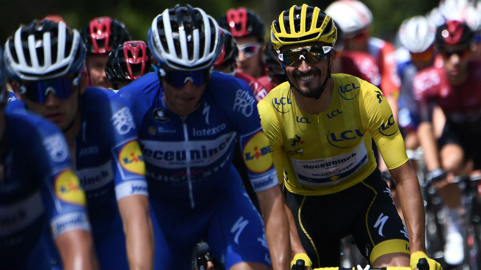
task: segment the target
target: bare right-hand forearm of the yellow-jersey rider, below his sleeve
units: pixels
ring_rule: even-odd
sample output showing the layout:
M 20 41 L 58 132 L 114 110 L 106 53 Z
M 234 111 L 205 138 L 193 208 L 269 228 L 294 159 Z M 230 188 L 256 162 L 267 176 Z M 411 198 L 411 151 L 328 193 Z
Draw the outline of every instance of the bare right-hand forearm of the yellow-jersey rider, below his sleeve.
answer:
M 411 253 L 426 252 L 424 204 L 417 175 L 409 162 L 390 170 L 396 182 L 404 223 L 409 234 Z

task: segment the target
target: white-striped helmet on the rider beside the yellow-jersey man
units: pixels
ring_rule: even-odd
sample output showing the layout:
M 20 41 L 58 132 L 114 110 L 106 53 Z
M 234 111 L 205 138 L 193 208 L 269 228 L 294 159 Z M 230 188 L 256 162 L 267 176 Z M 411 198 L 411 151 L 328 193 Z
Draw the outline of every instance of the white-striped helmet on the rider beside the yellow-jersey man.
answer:
M 190 5 L 164 10 L 148 32 L 148 45 L 158 65 L 183 71 L 213 66 L 221 42 L 217 22 Z

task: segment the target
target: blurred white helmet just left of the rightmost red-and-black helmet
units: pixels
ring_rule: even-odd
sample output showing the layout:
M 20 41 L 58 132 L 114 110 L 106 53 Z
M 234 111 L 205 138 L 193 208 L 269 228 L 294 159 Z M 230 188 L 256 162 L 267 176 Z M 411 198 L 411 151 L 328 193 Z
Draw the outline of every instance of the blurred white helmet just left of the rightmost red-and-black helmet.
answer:
M 410 52 L 419 53 L 433 45 L 436 28 L 424 16 L 405 19 L 398 31 L 399 42 Z

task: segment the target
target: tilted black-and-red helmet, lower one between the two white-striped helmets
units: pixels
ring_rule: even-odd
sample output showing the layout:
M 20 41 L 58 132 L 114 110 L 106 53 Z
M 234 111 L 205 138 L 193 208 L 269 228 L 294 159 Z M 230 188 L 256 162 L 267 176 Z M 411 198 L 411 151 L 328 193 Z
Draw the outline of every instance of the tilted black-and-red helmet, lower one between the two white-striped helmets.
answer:
M 150 51 L 141 40 L 126 41 L 109 54 L 105 75 L 117 91 L 142 75 L 153 71 Z

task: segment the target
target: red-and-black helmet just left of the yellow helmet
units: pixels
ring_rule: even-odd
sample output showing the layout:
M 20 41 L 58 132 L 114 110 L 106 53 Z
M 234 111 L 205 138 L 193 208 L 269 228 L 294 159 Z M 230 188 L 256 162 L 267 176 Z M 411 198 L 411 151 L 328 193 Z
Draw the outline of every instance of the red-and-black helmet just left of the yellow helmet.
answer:
M 229 9 L 222 15 L 219 26 L 230 31 L 233 37 L 255 36 L 264 42 L 266 28 L 260 16 L 250 9 Z

